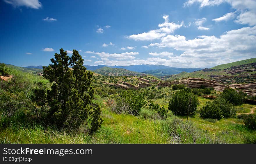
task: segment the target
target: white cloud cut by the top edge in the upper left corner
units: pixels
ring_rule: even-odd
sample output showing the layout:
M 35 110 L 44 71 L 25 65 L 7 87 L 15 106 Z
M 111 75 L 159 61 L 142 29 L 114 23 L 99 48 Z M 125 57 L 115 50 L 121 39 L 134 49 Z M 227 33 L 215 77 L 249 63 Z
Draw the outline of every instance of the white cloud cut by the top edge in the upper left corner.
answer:
M 27 8 L 39 9 L 42 3 L 38 0 L 3 0 L 5 3 L 13 5 L 13 7 L 26 6 Z

